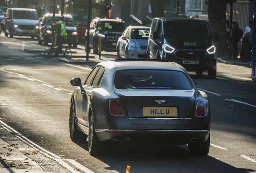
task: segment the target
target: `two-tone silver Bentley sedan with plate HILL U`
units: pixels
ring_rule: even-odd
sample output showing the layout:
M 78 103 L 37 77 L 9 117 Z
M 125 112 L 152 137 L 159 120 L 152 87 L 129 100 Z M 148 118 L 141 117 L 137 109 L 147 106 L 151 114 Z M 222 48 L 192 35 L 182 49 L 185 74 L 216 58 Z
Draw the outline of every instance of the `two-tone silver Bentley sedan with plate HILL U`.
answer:
M 80 78 L 70 83 L 78 86 L 70 101 L 70 138 L 88 136 L 91 155 L 100 151 L 103 141 L 143 138 L 188 144 L 194 155 L 209 153 L 207 96 L 179 64 L 116 59 L 97 64 L 84 83 Z

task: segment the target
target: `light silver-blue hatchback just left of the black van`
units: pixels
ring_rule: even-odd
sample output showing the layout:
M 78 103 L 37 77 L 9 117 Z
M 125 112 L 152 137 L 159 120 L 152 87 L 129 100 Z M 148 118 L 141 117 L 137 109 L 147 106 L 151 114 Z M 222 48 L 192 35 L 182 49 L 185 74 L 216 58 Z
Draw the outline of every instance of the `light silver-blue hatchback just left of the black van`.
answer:
M 118 39 L 117 58 L 147 58 L 149 29 L 146 26 L 129 26 Z

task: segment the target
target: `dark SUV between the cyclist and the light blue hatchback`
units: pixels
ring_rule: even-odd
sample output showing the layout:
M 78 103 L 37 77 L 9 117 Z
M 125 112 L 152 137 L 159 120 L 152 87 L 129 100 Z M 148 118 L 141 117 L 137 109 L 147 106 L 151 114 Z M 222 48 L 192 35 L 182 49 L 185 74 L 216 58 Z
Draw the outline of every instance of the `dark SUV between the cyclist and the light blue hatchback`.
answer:
M 90 24 L 90 46 L 93 48 L 93 53 L 98 54 L 99 51 L 99 36 L 101 36 L 101 50 L 112 52 L 116 51 L 118 38 L 126 29 L 126 23 L 119 19 L 95 18 Z M 87 31 L 85 32 L 87 37 Z M 86 39 L 85 39 L 86 40 Z M 85 41 L 85 51 L 86 51 Z

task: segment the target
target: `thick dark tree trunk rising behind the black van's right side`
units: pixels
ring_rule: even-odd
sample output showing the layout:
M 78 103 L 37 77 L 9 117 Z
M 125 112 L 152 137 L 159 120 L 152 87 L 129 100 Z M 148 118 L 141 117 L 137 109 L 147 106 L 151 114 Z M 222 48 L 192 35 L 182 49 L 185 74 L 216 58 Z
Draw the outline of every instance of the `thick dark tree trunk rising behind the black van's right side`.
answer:
M 226 10 L 225 0 L 209 0 L 208 17 L 213 35 L 219 33 L 220 40 L 215 42 L 218 56 L 225 56 L 228 52 L 227 30 L 226 30 Z

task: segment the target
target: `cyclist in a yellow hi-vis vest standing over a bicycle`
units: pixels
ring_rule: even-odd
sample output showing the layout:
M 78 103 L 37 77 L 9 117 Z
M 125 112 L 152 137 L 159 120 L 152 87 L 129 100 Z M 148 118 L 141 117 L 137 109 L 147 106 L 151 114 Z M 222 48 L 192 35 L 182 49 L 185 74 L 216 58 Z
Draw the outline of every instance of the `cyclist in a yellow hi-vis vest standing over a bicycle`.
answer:
M 58 56 L 58 54 L 62 53 L 62 45 L 64 44 L 64 38 L 65 36 L 68 36 L 66 32 L 66 25 L 65 25 L 65 17 L 60 16 L 60 21 L 56 24 L 56 34 L 57 34 L 57 41 L 58 41 L 58 48 L 55 52 L 55 56 Z

